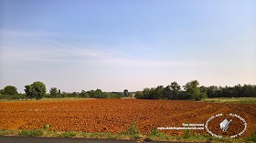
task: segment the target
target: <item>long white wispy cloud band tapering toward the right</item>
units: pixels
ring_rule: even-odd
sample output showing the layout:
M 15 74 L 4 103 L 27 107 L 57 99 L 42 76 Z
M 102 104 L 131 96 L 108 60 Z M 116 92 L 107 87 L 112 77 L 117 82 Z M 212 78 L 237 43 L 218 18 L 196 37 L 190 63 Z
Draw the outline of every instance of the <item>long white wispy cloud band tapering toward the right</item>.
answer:
M 136 57 L 123 57 L 114 53 L 104 53 L 86 47 L 52 47 L 52 48 L 6 48 L 2 55 L 5 62 L 74 62 L 105 64 L 112 66 L 203 66 L 213 64 L 209 61 L 198 61 L 194 59 L 184 60 L 152 60 Z

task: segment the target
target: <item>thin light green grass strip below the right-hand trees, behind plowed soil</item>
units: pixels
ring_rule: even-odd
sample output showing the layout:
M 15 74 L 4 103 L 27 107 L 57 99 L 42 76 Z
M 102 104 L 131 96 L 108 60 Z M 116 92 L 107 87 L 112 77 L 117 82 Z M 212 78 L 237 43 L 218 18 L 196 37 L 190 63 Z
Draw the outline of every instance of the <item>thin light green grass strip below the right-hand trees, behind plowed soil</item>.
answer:
M 215 103 L 256 104 L 256 97 L 213 97 L 202 101 Z

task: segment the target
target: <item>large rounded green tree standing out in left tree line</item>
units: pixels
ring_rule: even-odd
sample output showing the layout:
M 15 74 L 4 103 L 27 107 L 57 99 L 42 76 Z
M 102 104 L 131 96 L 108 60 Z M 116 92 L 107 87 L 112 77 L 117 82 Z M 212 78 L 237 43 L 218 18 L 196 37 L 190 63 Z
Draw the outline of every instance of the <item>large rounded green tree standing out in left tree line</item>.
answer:
M 25 86 L 25 92 L 28 98 L 40 99 L 46 95 L 46 85 L 40 81 L 36 81 L 31 85 Z

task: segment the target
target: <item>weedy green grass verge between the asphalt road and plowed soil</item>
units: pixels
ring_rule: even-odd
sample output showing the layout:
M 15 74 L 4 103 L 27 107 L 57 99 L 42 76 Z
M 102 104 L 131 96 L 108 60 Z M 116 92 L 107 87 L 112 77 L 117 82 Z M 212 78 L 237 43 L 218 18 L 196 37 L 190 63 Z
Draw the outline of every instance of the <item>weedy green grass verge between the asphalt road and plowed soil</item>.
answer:
M 132 124 L 133 125 L 133 124 Z M 187 142 L 187 141 L 197 141 L 197 142 L 206 142 L 209 138 L 212 138 L 212 143 L 253 143 L 256 142 L 256 133 L 252 134 L 248 138 L 213 138 L 207 135 L 196 134 L 191 131 L 185 131 L 183 136 L 171 136 L 162 132 L 158 132 L 158 130 L 153 129 L 150 133 L 141 135 L 139 133 L 134 134 L 133 131 L 129 128 L 126 132 L 123 133 L 87 133 L 87 132 L 74 132 L 74 131 L 66 131 L 66 132 L 58 132 L 51 129 L 37 129 L 37 130 L 7 130 L 0 129 L 0 136 L 22 136 L 22 137 L 60 137 L 60 138 L 112 138 L 112 139 L 135 139 L 139 138 L 141 141 L 144 141 L 145 138 L 149 138 L 153 141 L 179 141 L 179 142 Z M 130 127 L 130 128 L 131 128 Z

